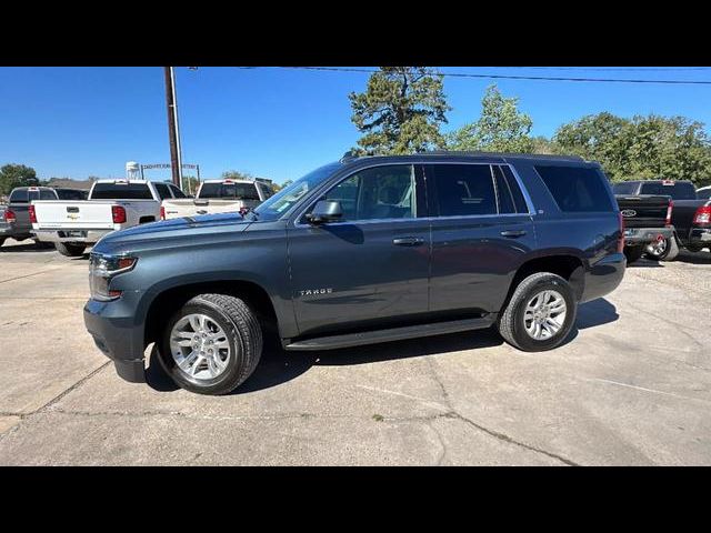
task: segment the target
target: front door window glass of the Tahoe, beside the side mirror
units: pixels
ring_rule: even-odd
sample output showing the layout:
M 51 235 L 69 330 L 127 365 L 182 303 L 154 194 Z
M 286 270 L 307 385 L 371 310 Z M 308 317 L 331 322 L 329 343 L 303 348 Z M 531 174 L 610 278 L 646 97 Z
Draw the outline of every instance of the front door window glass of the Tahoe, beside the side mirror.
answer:
M 341 220 L 413 219 L 414 169 L 410 164 L 374 167 L 341 181 L 323 200 L 341 203 Z

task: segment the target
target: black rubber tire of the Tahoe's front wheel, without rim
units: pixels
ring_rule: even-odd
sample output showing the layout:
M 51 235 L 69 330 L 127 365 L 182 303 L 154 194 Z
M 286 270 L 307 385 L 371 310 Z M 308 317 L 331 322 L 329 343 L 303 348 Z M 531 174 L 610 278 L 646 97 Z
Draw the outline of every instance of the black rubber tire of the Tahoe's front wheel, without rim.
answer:
M 227 334 L 233 358 L 227 369 L 211 380 L 196 380 L 180 368 L 170 351 L 170 334 L 176 323 L 188 314 L 208 315 Z M 181 389 L 198 394 L 227 394 L 254 372 L 262 354 L 262 330 L 254 312 L 239 298 L 226 294 L 200 294 L 189 300 L 166 324 L 160 342 L 159 361 L 166 373 Z

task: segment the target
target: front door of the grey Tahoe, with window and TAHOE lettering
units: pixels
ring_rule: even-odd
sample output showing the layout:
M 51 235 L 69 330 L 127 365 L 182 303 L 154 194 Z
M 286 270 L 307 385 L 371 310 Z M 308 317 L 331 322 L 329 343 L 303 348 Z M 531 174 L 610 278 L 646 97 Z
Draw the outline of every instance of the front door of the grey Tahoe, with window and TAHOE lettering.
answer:
M 337 200 L 339 222 L 288 230 L 301 334 L 407 321 L 428 311 L 430 231 L 421 175 L 411 164 L 373 167 L 318 200 Z M 421 172 L 421 169 L 419 170 Z

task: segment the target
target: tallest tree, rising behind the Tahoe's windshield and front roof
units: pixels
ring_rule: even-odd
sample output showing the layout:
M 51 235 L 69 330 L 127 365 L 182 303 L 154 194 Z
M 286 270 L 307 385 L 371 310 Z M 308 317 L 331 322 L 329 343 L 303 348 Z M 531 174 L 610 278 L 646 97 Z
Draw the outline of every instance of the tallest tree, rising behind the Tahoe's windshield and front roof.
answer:
M 427 67 L 381 67 L 368 80 L 365 92 L 348 98 L 351 120 L 363 135 L 356 153 L 408 154 L 443 148 L 440 124 L 451 108 L 442 76 Z

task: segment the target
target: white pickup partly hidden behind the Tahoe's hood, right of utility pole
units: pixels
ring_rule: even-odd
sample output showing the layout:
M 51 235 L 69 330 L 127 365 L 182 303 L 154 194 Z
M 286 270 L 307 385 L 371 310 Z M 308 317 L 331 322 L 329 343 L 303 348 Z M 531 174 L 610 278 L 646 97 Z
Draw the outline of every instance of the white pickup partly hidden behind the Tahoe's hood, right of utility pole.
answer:
M 161 219 L 178 219 L 200 214 L 231 213 L 256 208 L 274 193 L 271 181 L 206 180 L 196 198 L 163 200 Z

